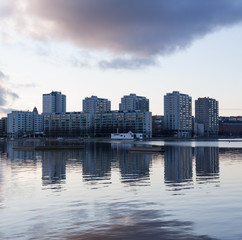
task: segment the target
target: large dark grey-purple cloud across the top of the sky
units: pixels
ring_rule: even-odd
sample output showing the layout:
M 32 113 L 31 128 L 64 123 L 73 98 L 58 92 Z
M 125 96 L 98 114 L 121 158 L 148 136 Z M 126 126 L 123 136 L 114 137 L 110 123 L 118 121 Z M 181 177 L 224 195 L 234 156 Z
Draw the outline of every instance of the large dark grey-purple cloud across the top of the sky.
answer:
M 52 37 L 147 57 L 184 49 L 195 39 L 241 21 L 242 1 L 31 0 L 27 13 L 44 21 Z

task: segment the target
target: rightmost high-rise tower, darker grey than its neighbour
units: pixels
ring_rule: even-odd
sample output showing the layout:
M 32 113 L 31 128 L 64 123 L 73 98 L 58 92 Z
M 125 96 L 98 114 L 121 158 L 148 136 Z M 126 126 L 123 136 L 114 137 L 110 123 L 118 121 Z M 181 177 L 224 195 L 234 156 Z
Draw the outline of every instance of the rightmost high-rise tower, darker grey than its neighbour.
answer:
M 212 98 L 198 98 L 195 101 L 195 123 L 203 124 L 204 136 L 218 135 L 218 101 Z

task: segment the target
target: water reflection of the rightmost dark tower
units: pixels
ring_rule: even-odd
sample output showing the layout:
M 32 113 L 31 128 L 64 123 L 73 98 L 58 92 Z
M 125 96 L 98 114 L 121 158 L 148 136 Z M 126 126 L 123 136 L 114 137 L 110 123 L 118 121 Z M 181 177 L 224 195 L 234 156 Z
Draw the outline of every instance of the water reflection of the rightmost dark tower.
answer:
M 219 178 L 219 148 L 195 148 L 196 175 L 201 182 Z

